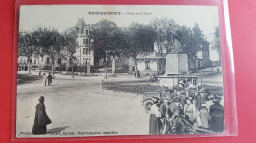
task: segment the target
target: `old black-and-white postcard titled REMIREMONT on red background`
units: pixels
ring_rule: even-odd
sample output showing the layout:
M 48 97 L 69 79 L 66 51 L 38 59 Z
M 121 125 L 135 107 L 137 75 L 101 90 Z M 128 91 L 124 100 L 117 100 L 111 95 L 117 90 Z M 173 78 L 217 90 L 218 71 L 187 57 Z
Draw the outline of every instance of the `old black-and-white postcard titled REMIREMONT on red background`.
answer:
M 225 132 L 216 6 L 21 5 L 17 138 Z

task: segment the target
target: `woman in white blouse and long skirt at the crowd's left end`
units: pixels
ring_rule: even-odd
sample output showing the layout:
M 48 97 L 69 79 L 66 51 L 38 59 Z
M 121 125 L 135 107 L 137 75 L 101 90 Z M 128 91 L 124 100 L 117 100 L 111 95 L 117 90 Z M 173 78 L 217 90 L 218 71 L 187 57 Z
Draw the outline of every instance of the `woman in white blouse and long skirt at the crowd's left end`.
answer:
M 158 98 L 153 97 L 153 105 L 150 108 L 150 129 L 149 129 L 149 134 L 160 134 L 160 117 L 161 113 L 159 110 L 159 107 L 157 106 L 158 104 Z

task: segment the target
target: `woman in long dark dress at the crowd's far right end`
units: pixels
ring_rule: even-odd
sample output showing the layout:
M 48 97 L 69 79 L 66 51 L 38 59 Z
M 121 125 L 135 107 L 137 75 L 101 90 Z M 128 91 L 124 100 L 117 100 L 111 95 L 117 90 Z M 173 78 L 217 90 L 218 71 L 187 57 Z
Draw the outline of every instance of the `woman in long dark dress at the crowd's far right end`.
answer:
M 214 104 L 210 106 L 210 123 L 209 129 L 220 133 L 224 132 L 224 106 L 220 104 L 221 98 L 216 96 L 214 99 Z

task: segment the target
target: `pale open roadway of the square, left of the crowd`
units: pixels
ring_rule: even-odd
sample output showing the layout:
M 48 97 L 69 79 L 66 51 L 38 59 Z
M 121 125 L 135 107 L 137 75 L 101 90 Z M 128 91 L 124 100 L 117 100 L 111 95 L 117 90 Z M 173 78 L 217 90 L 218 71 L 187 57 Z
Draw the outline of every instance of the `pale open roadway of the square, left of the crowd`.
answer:
M 45 97 L 46 112 L 53 122 L 48 129 L 69 126 L 61 131 L 61 136 L 105 131 L 118 132 L 118 135 L 147 134 L 149 115 L 141 104 L 141 96 L 105 91 L 101 82 L 102 77 L 57 76 L 53 86 L 43 87 L 42 80 L 18 85 L 16 134 L 25 137 L 32 131 L 40 96 Z

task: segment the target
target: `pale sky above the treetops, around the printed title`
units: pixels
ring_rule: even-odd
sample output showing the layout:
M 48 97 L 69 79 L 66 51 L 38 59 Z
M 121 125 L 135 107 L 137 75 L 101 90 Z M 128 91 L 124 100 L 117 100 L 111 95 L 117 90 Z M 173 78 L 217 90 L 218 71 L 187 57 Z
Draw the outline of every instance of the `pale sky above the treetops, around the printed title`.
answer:
M 121 12 L 122 15 L 89 15 L 89 12 Z M 39 26 L 54 27 L 61 32 L 75 26 L 78 18 L 84 18 L 86 24 L 107 19 L 119 27 L 128 27 L 132 22 L 149 24 L 154 17 L 173 19 L 177 24 L 190 28 L 197 23 L 209 42 L 213 40 L 214 27 L 219 25 L 218 8 L 215 6 L 23 5 L 20 7 L 19 30 L 30 31 Z

